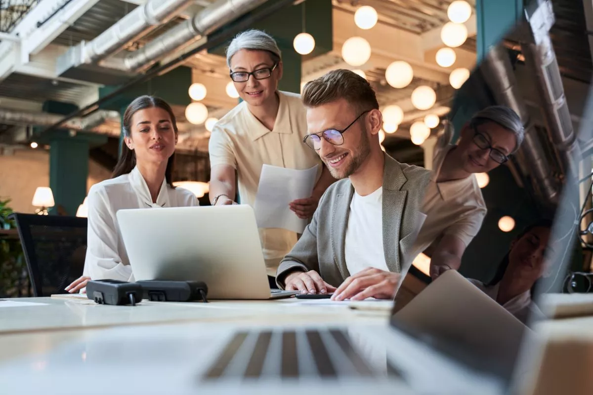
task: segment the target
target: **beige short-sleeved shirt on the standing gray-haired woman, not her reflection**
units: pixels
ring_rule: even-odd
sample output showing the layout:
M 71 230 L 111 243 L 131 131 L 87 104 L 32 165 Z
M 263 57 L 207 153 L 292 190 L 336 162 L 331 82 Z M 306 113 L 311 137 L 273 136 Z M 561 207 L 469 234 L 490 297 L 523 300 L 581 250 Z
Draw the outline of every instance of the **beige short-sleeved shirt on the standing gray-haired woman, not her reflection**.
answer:
M 216 123 L 210 137 L 210 165 L 230 165 L 237 170 L 241 203 L 251 207 L 264 164 L 297 170 L 322 164 L 317 153 L 302 142 L 307 135 L 307 117 L 301 95 L 280 91 L 278 95 L 280 107 L 273 130 L 263 126 L 247 103 L 241 102 Z M 317 179 L 322 168 L 323 164 Z M 297 233 L 260 229 L 260 240 L 267 273 L 275 276 L 280 259 L 297 243 Z

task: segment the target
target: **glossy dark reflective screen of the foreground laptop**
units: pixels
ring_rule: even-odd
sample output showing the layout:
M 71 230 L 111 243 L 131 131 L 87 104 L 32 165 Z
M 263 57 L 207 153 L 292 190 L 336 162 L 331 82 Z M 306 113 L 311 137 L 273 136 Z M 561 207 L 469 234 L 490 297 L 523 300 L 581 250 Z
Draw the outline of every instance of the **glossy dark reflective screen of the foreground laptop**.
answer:
M 577 65 L 554 31 L 562 26 L 550 22 L 551 12 L 545 3 L 528 8 L 525 20 L 490 47 L 452 95 L 448 123 L 430 149 L 425 147 L 433 172 L 425 191 L 426 219 L 391 324 L 440 343 L 456 358 L 487 356 L 431 332 L 426 322 L 439 316 L 435 309 L 451 309 L 459 330 L 471 332 L 485 318 L 468 315 L 469 304 L 448 294 L 467 292 L 466 287 L 447 288 L 438 303 L 422 306 L 416 314 L 423 314 L 422 320 L 403 319 L 450 266 L 457 265 L 489 297 L 484 311 L 495 303 L 526 328 L 546 319 L 543 294 L 586 292 L 590 284 L 578 274 L 588 271 L 582 246 L 592 243 L 589 216 L 579 220 L 591 208 L 591 156 L 584 160 L 580 153 L 591 140 L 590 76 L 584 81 L 576 75 Z M 432 158 L 426 158 L 429 152 Z M 482 303 L 469 295 L 473 307 Z M 457 305 L 447 306 L 448 301 Z M 506 324 L 500 325 L 503 330 Z M 484 367 L 510 378 L 515 361 Z

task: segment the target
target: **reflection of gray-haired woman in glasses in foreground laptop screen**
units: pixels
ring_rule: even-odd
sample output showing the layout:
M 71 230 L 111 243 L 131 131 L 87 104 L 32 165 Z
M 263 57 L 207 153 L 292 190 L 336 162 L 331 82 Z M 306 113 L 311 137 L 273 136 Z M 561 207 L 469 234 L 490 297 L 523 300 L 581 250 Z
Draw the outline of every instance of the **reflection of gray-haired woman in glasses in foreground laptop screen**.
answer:
M 486 216 L 475 174 L 507 162 L 524 137 L 521 118 L 502 105 L 474 114 L 461 129 L 457 145 L 449 144 L 452 129 L 445 130 L 435 147 L 431 182 L 422 205 L 426 220 L 412 252 L 416 256 L 433 245 L 433 280 L 445 270 L 459 269 L 467 245 Z

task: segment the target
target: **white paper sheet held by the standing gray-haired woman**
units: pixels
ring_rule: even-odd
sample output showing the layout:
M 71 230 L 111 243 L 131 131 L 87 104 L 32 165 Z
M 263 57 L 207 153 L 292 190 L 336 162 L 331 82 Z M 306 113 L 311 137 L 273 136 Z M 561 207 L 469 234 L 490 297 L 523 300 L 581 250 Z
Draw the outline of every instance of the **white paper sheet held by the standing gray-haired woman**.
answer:
M 257 227 L 282 228 L 302 233 L 308 221 L 297 217 L 288 204 L 311 197 L 317 169 L 318 165 L 307 170 L 263 165 L 253 207 Z

